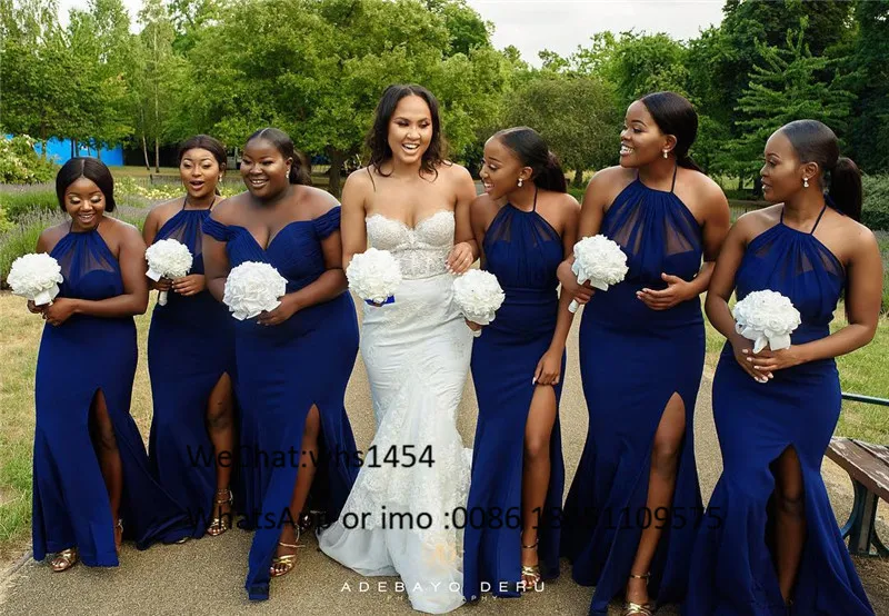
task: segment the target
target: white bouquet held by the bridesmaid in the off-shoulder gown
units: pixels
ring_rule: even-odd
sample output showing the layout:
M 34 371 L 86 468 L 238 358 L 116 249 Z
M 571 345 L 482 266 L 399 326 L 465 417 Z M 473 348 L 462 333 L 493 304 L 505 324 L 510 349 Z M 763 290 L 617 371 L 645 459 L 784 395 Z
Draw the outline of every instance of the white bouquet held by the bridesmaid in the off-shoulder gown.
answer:
M 244 261 L 229 272 L 222 301 L 232 316 L 242 321 L 263 310 L 274 310 L 286 292 L 287 279 L 277 269 L 269 264 Z

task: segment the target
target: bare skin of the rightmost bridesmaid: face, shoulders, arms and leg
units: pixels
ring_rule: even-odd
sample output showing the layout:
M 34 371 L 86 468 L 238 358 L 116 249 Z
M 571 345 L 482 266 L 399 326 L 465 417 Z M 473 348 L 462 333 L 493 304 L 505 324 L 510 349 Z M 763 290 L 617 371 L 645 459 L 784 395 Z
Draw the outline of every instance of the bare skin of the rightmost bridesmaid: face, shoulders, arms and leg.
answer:
M 831 208 L 825 210 L 823 170 L 816 162 L 801 161 L 790 140 L 780 131 L 766 143 L 760 170 L 763 195 L 776 203 L 743 215 L 726 239 L 707 294 L 707 316 L 731 344 L 735 359 L 750 378 L 768 387 L 775 372 L 807 361 L 846 355 L 863 347 L 877 331 L 882 289 L 882 261 L 873 234 Z M 809 187 L 803 187 L 803 180 Z M 846 270 L 846 310 L 849 325 L 818 340 L 753 354 L 751 340 L 738 335 L 729 309 L 735 278 L 749 244 L 760 234 L 783 223 L 802 232 L 815 228 L 815 238 L 837 257 Z M 772 465 L 776 479 L 776 568 L 781 596 L 792 597 L 802 548 L 806 542 L 806 513 L 802 470 L 792 447 Z

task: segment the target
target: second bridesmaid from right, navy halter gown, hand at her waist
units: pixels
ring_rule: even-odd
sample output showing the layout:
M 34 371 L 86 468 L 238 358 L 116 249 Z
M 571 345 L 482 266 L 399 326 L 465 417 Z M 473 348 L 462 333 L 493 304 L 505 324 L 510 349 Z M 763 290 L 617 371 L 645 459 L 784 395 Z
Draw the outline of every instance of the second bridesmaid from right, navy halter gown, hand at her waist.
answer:
M 630 105 L 620 166 L 590 181 L 579 232 L 617 241 L 629 272 L 593 295 L 578 287 L 572 259 L 559 267 L 566 290 L 589 299 L 580 325 L 589 433 L 561 552 L 575 579 L 596 586 L 590 614 L 605 614 L 621 590 L 623 614 L 651 614 L 652 598 L 686 593 L 702 515 L 692 437 L 705 354 L 698 296 L 729 228 L 722 190 L 689 158 L 697 129 L 679 95 Z

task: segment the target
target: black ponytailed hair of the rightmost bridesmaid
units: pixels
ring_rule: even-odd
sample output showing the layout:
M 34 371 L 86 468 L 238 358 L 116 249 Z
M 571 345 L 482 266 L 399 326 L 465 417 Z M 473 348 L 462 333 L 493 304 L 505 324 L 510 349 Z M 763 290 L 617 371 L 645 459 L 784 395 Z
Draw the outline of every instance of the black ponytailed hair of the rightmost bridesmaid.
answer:
M 850 158 L 840 156 L 837 135 L 818 120 L 796 120 L 778 129 L 800 162 L 816 162 L 821 169 L 822 188 L 832 206 L 851 218 L 861 220 L 861 171 Z M 830 202 L 828 201 L 828 202 Z

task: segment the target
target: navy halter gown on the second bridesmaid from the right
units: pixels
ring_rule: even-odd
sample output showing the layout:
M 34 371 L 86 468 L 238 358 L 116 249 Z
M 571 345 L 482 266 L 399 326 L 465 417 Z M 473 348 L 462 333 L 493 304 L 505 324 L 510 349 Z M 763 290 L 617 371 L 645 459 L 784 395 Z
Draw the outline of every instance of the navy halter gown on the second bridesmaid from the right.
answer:
M 676 182 L 676 177 L 673 177 Z M 691 280 L 700 270 L 700 226 L 672 189 L 637 177 L 608 209 L 601 234 L 627 254 L 629 272 L 597 291 L 580 326 L 580 372 L 589 433 L 565 506 L 561 553 L 578 584 L 595 585 L 590 614 L 605 614 L 627 586 L 643 528 L 663 527 L 648 590 L 658 603 L 685 596 L 695 517 L 702 515 L 692 437 L 703 371 L 705 330 L 695 297 L 652 310 L 636 297 L 663 289 L 661 274 Z M 678 394 L 686 429 L 672 499 L 675 517 L 648 511 L 651 449 L 668 401 Z

